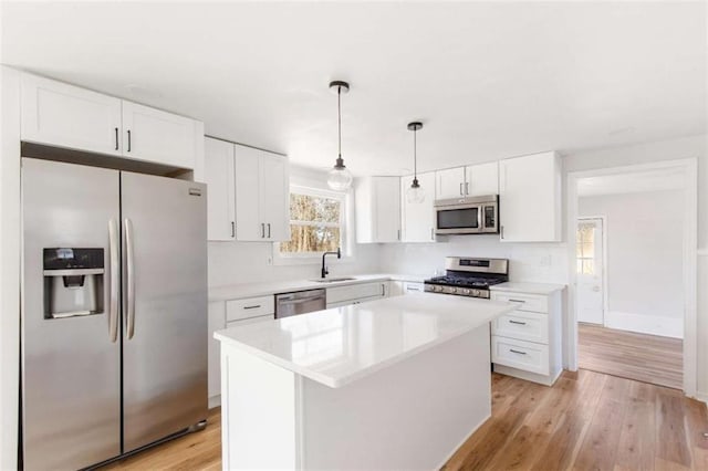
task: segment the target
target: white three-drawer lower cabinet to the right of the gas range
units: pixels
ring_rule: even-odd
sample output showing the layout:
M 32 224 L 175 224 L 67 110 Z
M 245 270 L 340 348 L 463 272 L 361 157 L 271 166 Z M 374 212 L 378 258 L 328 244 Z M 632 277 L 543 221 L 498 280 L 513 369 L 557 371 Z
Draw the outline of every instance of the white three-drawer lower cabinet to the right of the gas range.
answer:
M 491 324 L 494 371 L 551 386 L 562 371 L 561 291 L 548 295 L 492 291 L 519 305 Z

